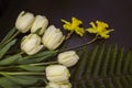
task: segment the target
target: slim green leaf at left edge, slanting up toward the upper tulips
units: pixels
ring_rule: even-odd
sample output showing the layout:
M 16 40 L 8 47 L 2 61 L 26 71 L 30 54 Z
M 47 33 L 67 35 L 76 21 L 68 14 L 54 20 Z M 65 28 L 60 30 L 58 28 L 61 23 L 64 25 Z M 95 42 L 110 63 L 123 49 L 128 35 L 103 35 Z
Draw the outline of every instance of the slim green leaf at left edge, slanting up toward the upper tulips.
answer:
M 7 45 L 4 45 L 1 50 L 0 50 L 0 58 L 3 57 L 3 55 L 9 51 L 9 48 L 14 45 L 16 42 L 16 40 L 13 40 L 11 42 L 9 42 Z

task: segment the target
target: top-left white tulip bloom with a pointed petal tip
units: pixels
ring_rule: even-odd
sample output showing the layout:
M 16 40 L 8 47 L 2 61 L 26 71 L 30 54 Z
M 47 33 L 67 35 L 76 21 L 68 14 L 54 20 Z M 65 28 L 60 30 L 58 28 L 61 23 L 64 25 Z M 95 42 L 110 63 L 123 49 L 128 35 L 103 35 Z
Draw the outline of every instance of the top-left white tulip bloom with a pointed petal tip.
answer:
M 22 11 L 16 19 L 15 28 L 20 32 L 25 33 L 30 30 L 33 21 L 34 21 L 33 13 Z

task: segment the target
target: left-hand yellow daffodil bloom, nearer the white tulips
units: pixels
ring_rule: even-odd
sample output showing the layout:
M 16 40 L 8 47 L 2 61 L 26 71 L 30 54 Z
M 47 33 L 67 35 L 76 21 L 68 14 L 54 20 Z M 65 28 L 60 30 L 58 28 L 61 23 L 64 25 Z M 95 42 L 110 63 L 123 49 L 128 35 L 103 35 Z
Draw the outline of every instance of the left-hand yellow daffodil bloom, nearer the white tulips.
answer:
M 78 20 L 77 18 L 72 18 L 72 23 L 66 20 L 62 20 L 62 22 L 65 23 L 63 25 L 63 28 L 65 30 L 70 31 L 70 33 L 76 32 L 80 36 L 84 35 L 84 33 L 85 33 L 84 28 L 79 26 L 80 24 L 82 24 L 82 22 L 80 20 Z

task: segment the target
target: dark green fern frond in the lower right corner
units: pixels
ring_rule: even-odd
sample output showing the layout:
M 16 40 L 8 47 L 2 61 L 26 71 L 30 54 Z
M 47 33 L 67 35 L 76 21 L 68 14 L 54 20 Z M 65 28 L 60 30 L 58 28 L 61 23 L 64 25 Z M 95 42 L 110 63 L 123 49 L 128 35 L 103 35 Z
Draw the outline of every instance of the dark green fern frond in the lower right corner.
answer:
M 73 88 L 131 88 L 132 51 L 119 50 L 117 45 L 84 50 L 72 69 Z

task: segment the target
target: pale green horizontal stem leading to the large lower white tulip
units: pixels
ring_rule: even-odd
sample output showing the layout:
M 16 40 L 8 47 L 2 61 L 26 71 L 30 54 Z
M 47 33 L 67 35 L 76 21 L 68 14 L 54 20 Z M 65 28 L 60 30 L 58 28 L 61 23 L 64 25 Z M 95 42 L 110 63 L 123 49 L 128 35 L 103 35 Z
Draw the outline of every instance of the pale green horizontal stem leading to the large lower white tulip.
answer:
M 0 75 L 45 75 L 45 73 L 28 73 L 28 72 L 19 72 L 19 73 L 7 73 L 7 72 L 0 72 Z

